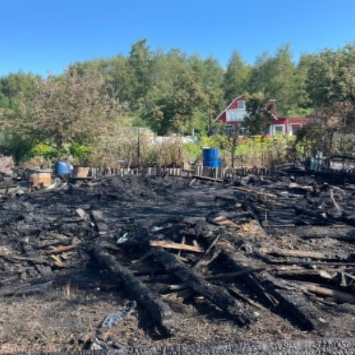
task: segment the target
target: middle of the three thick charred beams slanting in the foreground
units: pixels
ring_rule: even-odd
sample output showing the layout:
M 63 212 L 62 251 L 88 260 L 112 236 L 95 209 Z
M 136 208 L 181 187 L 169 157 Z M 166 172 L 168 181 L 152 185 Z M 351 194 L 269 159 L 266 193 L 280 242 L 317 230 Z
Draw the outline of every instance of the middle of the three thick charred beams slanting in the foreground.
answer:
M 153 253 L 156 260 L 164 266 L 166 271 L 173 273 L 187 286 L 229 313 L 238 323 L 244 325 L 255 319 L 253 314 L 246 312 L 242 304 L 224 288 L 208 283 L 196 272 L 181 263 L 174 255 L 163 250 L 154 250 Z

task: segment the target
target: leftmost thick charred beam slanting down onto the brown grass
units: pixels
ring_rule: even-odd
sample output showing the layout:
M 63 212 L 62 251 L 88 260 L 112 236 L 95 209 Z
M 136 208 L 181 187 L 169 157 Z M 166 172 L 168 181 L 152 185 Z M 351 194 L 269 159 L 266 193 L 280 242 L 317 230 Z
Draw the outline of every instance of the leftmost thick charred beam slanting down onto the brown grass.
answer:
M 113 256 L 104 252 L 99 246 L 94 246 L 92 252 L 96 260 L 109 270 L 112 281 L 117 283 L 118 279 L 122 280 L 127 292 L 149 312 L 154 322 L 168 333 L 176 331 L 176 325 L 173 320 L 174 313 L 169 305 L 160 299 L 157 293 L 145 286 L 126 267 L 122 266 Z

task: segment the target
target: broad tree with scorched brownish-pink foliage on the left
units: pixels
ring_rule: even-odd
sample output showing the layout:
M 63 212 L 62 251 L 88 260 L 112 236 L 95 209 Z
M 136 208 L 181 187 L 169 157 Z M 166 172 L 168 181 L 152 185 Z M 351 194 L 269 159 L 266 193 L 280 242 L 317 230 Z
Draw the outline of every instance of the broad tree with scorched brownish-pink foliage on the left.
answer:
M 93 143 L 107 134 L 122 106 L 109 97 L 97 71 L 67 70 L 37 83 L 35 97 L 22 108 L 22 117 L 8 122 L 37 142 L 48 142 L 59 152 L 64 143 Z

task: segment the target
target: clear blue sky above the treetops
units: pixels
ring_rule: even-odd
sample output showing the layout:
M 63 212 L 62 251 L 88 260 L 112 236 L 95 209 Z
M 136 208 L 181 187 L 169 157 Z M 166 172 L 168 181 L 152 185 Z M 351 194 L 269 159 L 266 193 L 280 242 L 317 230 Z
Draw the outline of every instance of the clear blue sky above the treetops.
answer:
M 76 61 L 152 50 L 212 55 L 233 50 L 253 64 L 289 43 L 301 53 L 355 41 L 354 0 L 0 0 L 0 76 L 62 73 Z

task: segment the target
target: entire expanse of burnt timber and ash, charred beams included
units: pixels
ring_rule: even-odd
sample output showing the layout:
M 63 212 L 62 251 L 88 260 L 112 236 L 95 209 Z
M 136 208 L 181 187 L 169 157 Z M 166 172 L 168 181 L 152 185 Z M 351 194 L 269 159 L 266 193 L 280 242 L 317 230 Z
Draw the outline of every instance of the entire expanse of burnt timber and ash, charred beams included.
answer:
M 0 351 L 351 338 L 355 185 L 122 176 L 0 202 Z

